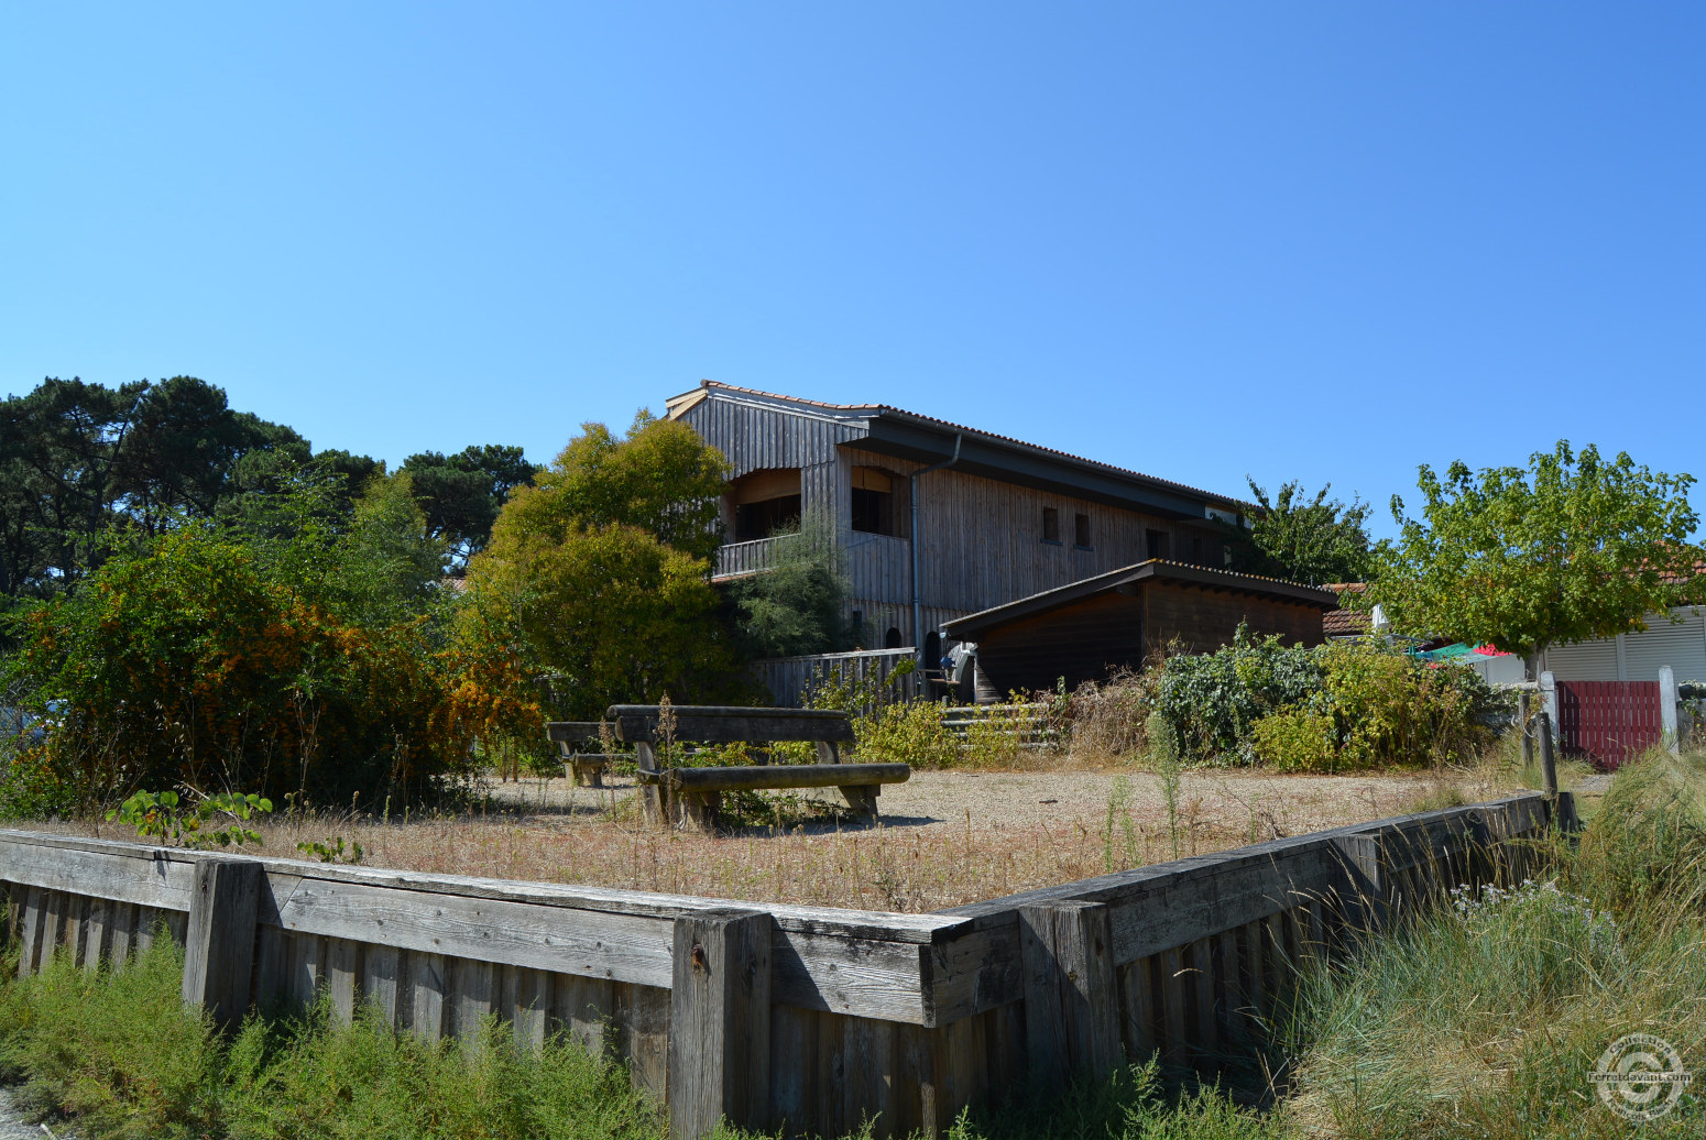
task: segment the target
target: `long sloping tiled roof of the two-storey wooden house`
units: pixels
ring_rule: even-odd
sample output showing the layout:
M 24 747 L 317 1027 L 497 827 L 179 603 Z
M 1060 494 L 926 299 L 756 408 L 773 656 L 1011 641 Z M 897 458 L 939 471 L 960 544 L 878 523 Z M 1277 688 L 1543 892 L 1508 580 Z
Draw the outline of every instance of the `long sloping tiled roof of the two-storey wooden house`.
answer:
M 804 399 L 800 396 L 781 396 L 778 393 L 764 393 L 754 387 L 739 387 L 735 384 L 722 384 L 718 381 L 701 381 L 699 387 L 686 391 L 679 396 L 672 396 L 665 401 L 669 415 L 672 418 L 681 416 L 701 399 L 710 394 L 723 393 L 734 398 L 752 398 L 766 404 L 783 404 L 790 410 L 802 411 L 807 415 L 819 413 L 834 420 L 863 420 L 867 437 L 858 442 L 860 447 L 879 451 L 885 454 L 901 456 L 906 459 L 916 459 L 923 462 L 937 462 L 949 457 L 954 452 L 955 444 L 972 442 L 981 444 L 984 452 L 991 452 L 979 459 L 978 456 L 964 456 L 957 464 L 967 471 L 978 471 L 979 466 L 991 466 L 993 452 L 1000 452 L 1000 459 L 995 461 L 1001 474 L 1012 474 L 1015 461 L 1022 466 L 1024 459 L 1041 459 L 1049 464 L 1065 469 L 1076 469 L 1087 474 L 1100 476 L 1102 480 L 1112 480 L 1121 485 L 1136 485 L 1148 491 L 1158 491 L 1169 498 L 1184 497 L 1191 500 L 1191 507 L 1186 509 L 1184 498 L 1174 498 L 1174 502 L 1162 502 L 1169 512 L 1179 514 L 1181 517 L 1206 517 L 1203 507 L 1213 505 L 1227 514 L 1250 514 L 1254 512 L 1254 503 L 1247 503 L 1240 498 L 1230 495 L 1216 495 L 1213 491 L 1204 491 L 1186 483 L 1175 483 L 1172 480 L 1162 480 L 1153 474 L 1143 474 L 1141 471 L 1131 471 L 1129 468 L 1117 468 L 1109 462 L 1100 462 L 1097 459 L 1087 459 L 1083 456 L 1075 456 L 1071 452 L 1058 451 L 1054 447 L 1042 447 L 1041 444 L 1027 444 L 1025 440 L 1013 439 L 1010 435 L 1000 435 L 996 432 L 984 432 L 979 428 L 966 427 L 962 423 L 954 423 L 952 420 L 938 420 L 937 416 L 920 415 L 916 411 L 906 411 L 904 408 L 894 408 L 891 404 L 831 404 L 819 399 Z M 1005 462 L 1001 462 L 1005 459 Z M 1034 485 L 1047 483 L 1037 473 L 1030 473 L 1030 478 L 1022 478 L 1020 481 L 1029 481 Z M 1061 485 L 1059 490 L 1068 493 L 1083 495 L 1085 498 L 1100 498 L 1114 502 L 1123 498 L 1123 495 L 1111 493 L 1104 488 L 1097 493 L 1092 486 L 1070 486 Z

